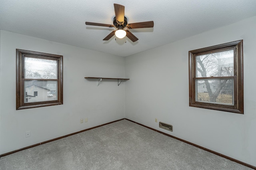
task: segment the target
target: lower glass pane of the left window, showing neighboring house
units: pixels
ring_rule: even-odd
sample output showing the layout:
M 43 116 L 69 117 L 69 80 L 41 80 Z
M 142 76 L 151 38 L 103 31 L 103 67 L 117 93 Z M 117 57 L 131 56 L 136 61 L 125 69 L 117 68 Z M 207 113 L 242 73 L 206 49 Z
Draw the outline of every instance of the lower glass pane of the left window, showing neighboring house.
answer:
M 24 86 L 25 103 L 58 99 L 58 81 L 25 80 Z

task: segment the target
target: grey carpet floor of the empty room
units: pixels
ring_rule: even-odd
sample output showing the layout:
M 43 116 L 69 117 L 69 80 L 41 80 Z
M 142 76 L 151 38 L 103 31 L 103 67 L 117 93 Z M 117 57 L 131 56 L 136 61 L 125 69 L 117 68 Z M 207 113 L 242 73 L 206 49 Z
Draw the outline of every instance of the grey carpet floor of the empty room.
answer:
M 251 170 L 122 120 L 0 158 L 1 170 Z

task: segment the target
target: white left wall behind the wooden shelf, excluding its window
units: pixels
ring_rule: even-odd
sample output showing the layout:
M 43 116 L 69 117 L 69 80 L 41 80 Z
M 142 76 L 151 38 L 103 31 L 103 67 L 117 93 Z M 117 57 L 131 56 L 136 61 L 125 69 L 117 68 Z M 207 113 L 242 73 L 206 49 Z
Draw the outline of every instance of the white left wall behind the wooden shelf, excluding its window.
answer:
M 16 49 L 63 55 L 63 105 L 16 111 Z M 124 64 L 124 57 L 1 30 L 0 154 L 124 118 L 125 83 L 84 79 L 124 77 Z

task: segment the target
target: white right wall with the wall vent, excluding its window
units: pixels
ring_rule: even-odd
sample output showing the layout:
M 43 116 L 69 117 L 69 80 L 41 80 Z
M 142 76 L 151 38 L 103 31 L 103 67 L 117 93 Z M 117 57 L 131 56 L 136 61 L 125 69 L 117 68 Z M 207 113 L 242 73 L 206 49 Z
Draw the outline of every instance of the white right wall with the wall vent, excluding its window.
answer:
M 248 18 L 126 57 L 125 117 L 256 166 L 255 30 Z M 244 40 L 244 115 L 189 107 L 188 51 L 236 40 Z

